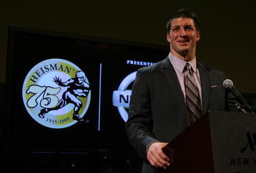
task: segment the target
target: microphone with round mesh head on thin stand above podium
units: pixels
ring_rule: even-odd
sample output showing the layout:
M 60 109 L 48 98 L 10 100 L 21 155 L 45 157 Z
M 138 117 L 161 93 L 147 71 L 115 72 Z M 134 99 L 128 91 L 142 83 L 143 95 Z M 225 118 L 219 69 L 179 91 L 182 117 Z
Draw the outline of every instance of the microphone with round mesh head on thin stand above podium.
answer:
M 249 110 L 250 112 L 253 113 L 252 108 L 250 107 L 250 105 L 248 105 L 245 98 L 243 98 L 242 95 L 239 93 L 239 91 L 235 88 L 235 86 L 233 85 L 232 80 L 230 80 L 230 79 L 224 80 L 223 86 L 224 86 L 225 89 L 231 90 L 232 93 L 240 100 L 240 103 L 242 103 L 242 105 L 245 108 L 247 108 L 247 110 Z

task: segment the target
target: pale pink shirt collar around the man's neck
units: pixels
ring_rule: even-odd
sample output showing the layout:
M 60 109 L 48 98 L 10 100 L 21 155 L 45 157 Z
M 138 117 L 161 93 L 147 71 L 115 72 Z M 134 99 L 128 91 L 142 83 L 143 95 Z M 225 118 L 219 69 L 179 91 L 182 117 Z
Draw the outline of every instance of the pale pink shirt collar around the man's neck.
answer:
M 183 72 L 184 66 L 186 65 L 186 63 L 189 63 L 191 65 L 192 69 L 195 71 L 195 73 L 197 73 L 197 59 L 196 59 L 196 57 L 187 62 L 187 61 L 182 60 L 181 58 L 173 56 L 172 53 L 169 53 L 169 61 L 172 63 L 172 65 L 175 68 L 177 68 L 177 70 L 179 70 L 180 73 Z

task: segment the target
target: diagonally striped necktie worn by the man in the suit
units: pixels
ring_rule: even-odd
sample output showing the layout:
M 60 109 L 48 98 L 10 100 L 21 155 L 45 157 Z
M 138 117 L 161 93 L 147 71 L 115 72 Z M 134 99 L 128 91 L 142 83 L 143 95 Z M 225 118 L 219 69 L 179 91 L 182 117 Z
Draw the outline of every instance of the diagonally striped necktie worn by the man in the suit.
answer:
M 186 93 L 187 111 L 191 124 L 202 116 L 200 94 L 193 75 L 193 69 L 189 63 L 184 67 L 184 86 Z

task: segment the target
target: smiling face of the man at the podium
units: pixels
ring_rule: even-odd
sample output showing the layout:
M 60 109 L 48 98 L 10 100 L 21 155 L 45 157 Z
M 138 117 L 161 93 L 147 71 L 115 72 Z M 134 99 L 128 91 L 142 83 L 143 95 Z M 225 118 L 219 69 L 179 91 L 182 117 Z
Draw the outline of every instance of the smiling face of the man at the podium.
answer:
M 177 18 L 172 20 L 172 28 L 167 34 L 167 41 L 170 43 L 171 53 L 174 56 L 188 54 L 195 56 L 195 48 L 199 39 L 200 32 L 196 30 L 193 19 Z

